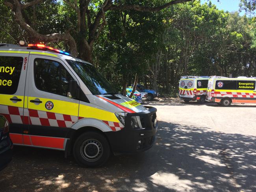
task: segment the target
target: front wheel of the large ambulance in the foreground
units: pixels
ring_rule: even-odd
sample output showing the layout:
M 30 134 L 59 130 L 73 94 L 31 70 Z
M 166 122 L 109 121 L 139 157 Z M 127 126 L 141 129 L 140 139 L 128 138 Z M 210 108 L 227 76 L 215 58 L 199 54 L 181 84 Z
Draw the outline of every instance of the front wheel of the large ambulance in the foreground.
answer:
M 98 167 L 108 161 L 110 146 L 100 133 L 85 132 L 76 139 L 73 154 L 80 166 Z

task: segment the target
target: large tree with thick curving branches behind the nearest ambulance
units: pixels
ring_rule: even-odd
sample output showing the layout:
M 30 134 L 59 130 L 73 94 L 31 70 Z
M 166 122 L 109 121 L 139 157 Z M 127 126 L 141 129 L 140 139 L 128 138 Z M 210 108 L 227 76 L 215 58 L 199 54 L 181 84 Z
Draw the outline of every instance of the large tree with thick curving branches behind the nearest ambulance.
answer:
M 132 2 L 126 4 L 115 0 L 64 0 L 76 14 L 76 20 L 71 22 L 72 27 L 63 29 L 61 32 L 52 34 L 39 33 L 35 30 L 28 20 L 23 17 L 24 12 L 31 6 L 45 3 L 46 0 L 33 0 L 21 3 L 19 0 L 5 0 L 5 4 L 11 8 L 15 14 L 15 20 L 24 30 L 27 31 L 31 39 L 42 42 L 64 41 L 68 45 L 72 55 L 79 56 L 85 61 L 93 62 L 92 51 L 95 41 L 100 36 L 104 26 L 107 24 L 106 12 L 109 10 L 135 10 L 143 12 L 156 12 L 174 4 L 188 2 L 190 0 L 173 0 L 162 5 L 157 2 Z M 52 1 L 52 4 L 58 4 Z M 65 6 L 65 4 L 63 6 Z M 47 4 L 48 5 L 48 4 Z

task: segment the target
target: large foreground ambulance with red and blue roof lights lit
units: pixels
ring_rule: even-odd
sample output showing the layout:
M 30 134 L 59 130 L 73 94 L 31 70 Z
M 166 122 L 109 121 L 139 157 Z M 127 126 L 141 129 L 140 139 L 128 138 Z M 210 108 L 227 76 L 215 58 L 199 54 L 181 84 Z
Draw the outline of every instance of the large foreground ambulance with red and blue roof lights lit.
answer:
M 154 145 L 156 108 L 118 94 L 93 65 L 44 44 L 0 44 L 0 114 L 15 145 L 65 151 L 80 166 Z

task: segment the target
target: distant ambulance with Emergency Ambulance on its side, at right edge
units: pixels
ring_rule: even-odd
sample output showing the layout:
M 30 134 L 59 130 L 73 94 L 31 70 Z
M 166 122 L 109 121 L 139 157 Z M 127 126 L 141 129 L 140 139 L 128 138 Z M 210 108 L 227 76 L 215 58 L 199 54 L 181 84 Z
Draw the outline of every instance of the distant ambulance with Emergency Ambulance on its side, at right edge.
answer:
M 256 103 L 256 78 L 210 76 L 207 100 L 229 107 L 231 103 Z

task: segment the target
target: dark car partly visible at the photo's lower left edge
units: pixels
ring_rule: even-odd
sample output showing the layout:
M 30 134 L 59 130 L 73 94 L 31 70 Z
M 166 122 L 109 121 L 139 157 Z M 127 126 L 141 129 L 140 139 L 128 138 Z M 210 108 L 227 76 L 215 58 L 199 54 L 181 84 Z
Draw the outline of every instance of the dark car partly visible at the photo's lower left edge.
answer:
M 12 159 L 13 142 L 9 137 L 9 122 L 0 115 L 0 170 Z

